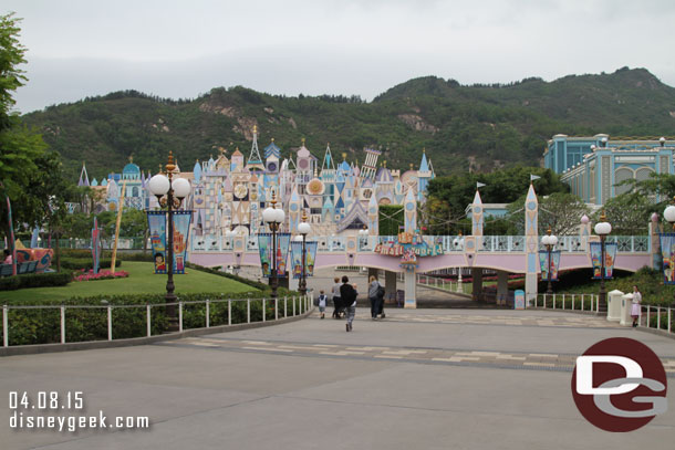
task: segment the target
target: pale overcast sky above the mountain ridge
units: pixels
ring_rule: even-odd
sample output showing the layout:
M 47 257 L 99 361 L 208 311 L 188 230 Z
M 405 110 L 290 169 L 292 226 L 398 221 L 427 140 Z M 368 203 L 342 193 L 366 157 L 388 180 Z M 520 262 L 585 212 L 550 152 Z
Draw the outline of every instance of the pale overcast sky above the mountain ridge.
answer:
M 243 85 L 372 100 L 412 77 L 461 84 L 645 67 L 675 86 L 672 0 L 3 0 L 22 18 L 28 113 L 120 90 Z

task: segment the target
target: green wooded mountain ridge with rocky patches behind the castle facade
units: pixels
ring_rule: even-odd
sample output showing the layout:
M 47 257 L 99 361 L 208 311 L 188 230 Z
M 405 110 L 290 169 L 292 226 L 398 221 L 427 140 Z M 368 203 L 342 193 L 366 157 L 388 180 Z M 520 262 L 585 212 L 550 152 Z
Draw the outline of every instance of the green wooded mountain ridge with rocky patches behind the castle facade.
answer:
M 435 76 L 411 80 L 372 102 L 357 96 L 287 97 L 246 87 L 214 88 L 193 101 L 152 97 L 135 91 L 85 98 L 25 115 L 44 140 L 77 174 L 118 171 L 131 155 L 156 171 L 169 150 L 181 168 L 239 147 L 248 156 L 253 125 L 259 144 L 274 138 L 283 154 L 300 146 L 318 157 L 363 161 L 363 148 L 384 151 L 388 167 L 417 166 L 426 148 L 437 172 L 486 171 L 538 164 L 554 134 L 668 136 L 675 128 L 675 88 L 644 69 L 570 75 L 553 82 L 463 86 Z

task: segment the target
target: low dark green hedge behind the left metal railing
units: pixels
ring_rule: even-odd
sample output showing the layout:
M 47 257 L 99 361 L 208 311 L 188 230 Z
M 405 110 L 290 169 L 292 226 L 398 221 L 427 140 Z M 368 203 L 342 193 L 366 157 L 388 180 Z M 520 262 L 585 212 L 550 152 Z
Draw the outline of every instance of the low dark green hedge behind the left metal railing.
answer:
M 283 295 L 289 292 L 280 290 L 279 317 L 283 317 Z M 251 299 L 251 322 L 262 321 L 262 297 L 269 292 L 249 293 L 199 293 L 184 294 L 178 299 L 183 302 L 205 301 L 217 299 Z M 297 295 L 297 293 L 295 293 Z M 131 305 L 132 307 L 113 308 L 113 338 L 141 337 L 146 335 L 146 304 L 164 303 L 163 294 L 113 295 L 94 297 L 72 297 L 64 302 L 41 301 L 41 305 Z M 10 302 L 11 304 L 11 302 Z M 27 302 L 15 304 L 27 305 Z M 134 305 L 136 305 L 134 307 Z M 176 306 L 178 308 L 178 306 Z M 288 301 L 288 313 L 292 315 L 292 303 Z M 297 306 L 297 312 L 298 312 Z M 211 303 L 209 307 L 211 326 L 228 323 L 227 302 Z M 165 307 L 150 308 L 153 335 L 164 333 L 168 327 Z M 176 315 L 178 312 L 176 311 Z M 231 303 L 231 323 L 247 322 L 247 302 Z M 206 325 L 206 305 L 186 304 L 183 314 L 184 329 L 200 328 Z M 273 302 L 266 302 L 266 318 L 274 318 Z M 10 345 L 49 344 L 61 339 L 61 318 L 58 307 L 50 310 L 11 310 L 9 311 L 9 342 Z M 102 308 L 66 308 L 65 311 L 66 342 L 103 341 L 107 339 L 107 310 Z

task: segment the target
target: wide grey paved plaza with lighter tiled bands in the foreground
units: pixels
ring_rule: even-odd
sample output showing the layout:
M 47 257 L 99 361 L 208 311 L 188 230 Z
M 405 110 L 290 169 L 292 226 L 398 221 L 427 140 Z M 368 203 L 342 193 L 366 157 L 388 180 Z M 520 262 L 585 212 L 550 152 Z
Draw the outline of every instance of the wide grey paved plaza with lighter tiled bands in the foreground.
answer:
M 631 433 L 594 428 L 571 395 L 575 356 L 632 337 L 675 380 L 675 341 L 581 314 L 360 308 L 354 331 L 310 317 L 154 345 L 0 359 L 9 391 L 80 390 L 85 415 L 147 430 L 11 430 L 2 449 L 672 449 L 675 402 Z M 63 415 L 71 412 L 65 411 Z M 79 412 L 72 412 L 79 414 Z

